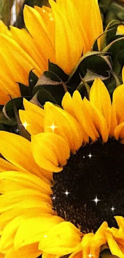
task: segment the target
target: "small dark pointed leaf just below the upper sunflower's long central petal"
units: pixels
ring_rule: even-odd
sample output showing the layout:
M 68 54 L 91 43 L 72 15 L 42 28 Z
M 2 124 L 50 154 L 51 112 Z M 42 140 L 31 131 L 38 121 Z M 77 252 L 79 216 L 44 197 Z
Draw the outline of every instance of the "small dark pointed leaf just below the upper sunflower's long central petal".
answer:
M 59 78 L 63 81 L 63 82 L 67 82 L 68 80 L 68 75 L 66 75 L 66 73 L 56 64 L 50 62 L 48 62 L 48 67 L 49 67 L 49 71 L 53 72 L 54 74 L 58 75 Z

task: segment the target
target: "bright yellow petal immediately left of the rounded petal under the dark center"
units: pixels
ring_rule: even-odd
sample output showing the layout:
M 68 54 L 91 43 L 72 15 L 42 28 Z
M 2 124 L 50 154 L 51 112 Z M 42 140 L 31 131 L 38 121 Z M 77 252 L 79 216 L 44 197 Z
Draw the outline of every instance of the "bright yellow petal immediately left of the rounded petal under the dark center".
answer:
M 47 232 L 54 225 L 64 221 L 59 216 L 29 218 L 25 220 L 17 230 L 14 239 L 14 247 L 18 249 L 27 244 L 42 241 Z

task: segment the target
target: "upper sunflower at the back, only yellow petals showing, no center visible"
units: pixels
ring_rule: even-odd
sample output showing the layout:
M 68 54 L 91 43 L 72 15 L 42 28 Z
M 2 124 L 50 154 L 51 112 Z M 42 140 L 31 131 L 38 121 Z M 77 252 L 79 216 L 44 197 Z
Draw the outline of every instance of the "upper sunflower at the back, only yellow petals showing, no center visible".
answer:
M 80 0 L 76 8 L 74 0 L 49 3 L 51 9 L 25 6 L 28 32 L 15 27 L 8 31 L 0 24 L 0 104 L 5 104 L 9 95 L 20 96 L 18 82 L 28 85 L 31 69 L 35 68 L 38 77 L 48 70 L 48 59 L 69 74 L 103 32 L 97 0 L 83 4 Z

